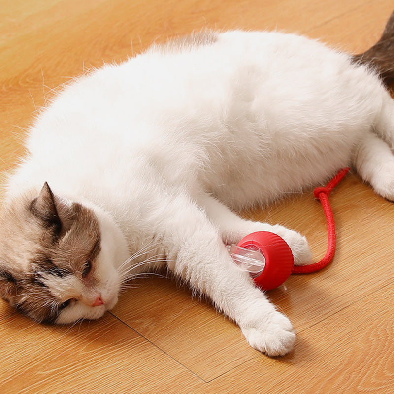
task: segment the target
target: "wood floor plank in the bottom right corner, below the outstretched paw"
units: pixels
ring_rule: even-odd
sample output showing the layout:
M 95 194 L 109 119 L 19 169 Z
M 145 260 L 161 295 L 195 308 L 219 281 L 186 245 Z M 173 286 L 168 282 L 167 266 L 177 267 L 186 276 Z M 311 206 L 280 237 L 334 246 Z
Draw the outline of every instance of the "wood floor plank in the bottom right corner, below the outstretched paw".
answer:
M 392 393 L 393 308 L 387 285 L 300 332 L 293 354 L 256 357 L 197 393 Z

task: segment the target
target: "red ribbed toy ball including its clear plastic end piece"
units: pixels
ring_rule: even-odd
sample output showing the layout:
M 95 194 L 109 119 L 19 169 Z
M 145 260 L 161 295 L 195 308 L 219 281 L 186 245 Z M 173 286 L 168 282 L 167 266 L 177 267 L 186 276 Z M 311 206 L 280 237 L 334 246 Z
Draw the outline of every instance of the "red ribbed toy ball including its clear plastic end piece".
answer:
M 230 246 L 230 255 L 241 269 L 248 271 L 262 290 L 280 286 L 292 273 L 293 253 L 279 235 L 258 231 Z

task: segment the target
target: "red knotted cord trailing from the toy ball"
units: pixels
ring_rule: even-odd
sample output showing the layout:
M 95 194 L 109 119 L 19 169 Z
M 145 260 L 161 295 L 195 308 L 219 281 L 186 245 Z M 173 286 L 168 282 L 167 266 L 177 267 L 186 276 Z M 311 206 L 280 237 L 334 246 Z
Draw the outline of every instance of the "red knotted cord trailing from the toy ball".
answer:
M 309 264 L 309 265 L 295 265 L 292 269 L 292 274 L 309 274 L 311 272 L 319 271 L 324 268 L 334 257 L 335 254 L 335 241 L 336 241 L 336 233 L 335 233 L 335 222 L 334 215 L 332 213 L 331 205 L 328 200 L 329 194 L 332 192 L 332 189 L 344 178 L 344 176 L 348 173 L 350 168 L 344 168 L 340 170 L 328 183 L 326 187 L 318 187 L 314 190 L 315 197 L 320 200 L 324 213 L 327 218 L 327 232 L 328 232 L 328 246 L 326 255 L 317 263 Z

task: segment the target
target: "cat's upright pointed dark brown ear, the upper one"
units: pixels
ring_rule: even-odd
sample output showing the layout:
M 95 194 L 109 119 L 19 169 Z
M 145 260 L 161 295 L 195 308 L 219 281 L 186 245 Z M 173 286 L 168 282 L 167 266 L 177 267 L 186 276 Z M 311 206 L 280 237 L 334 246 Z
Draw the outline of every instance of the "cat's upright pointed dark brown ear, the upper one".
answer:
M 61 231 L 62 223 L 56 209 L 55 197 L 47 182 L 44 183 L 38 197 L 33 199 L 30 210 L 44 225 Z

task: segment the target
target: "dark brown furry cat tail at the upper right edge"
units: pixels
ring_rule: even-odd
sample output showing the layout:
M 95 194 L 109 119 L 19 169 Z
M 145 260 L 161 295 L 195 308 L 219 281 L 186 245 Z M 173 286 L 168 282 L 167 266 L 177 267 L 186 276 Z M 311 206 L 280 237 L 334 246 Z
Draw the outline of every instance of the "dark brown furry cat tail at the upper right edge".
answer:
M 354 55 L 357 63 L 372 66 L 387 86 L 394 82 L 394 11 L 379 41 L 366 52 Z

